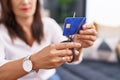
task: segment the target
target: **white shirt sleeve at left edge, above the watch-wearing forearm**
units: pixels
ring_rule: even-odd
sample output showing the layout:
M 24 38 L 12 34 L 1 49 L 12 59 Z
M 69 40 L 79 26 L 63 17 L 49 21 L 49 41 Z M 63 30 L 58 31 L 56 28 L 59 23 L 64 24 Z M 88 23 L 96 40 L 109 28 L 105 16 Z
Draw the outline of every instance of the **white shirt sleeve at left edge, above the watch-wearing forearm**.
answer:
M 0 39 L 0 66 L 7 63 L 9 60 L 5 60 L 5 47 Z

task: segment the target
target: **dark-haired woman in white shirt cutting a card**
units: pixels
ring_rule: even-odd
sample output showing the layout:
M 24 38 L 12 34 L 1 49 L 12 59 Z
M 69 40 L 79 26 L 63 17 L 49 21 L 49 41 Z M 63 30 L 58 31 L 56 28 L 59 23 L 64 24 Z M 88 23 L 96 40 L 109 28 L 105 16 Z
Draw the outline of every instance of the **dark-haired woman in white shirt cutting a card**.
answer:
M 75 38 L 66 40 L 58 24 L 40 15 L 39 0 L 1 0 L 0 80 L 50 80 L 56 67 L 71 61 L 72 51 L 96 40 L 93 25 L 84 25 Z M 79 42 L 79 43 L 78 43 Z M 58 79 L 55 79 L 58 80 Z

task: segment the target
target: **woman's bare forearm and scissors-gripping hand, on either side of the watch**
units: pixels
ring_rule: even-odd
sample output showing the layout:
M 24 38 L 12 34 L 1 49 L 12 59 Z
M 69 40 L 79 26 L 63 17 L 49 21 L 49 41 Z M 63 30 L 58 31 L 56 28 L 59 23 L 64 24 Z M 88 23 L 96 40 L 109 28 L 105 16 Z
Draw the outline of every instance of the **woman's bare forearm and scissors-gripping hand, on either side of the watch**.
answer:
M 58 43 L 52 44 L 41 51 L 31 55 L 30 60 L 33 64 L 33 70 L 56 68 L 67 60 L 67 57 L 72 55 L 72 51 L 66 48 L 79 48 L 79 43 Z M 63 60 L 62 57 L 66 59 Z M 7 62 L 0 66 L 0 80 L 16 80 L 27 74 L 23 70 L 24 58 Z

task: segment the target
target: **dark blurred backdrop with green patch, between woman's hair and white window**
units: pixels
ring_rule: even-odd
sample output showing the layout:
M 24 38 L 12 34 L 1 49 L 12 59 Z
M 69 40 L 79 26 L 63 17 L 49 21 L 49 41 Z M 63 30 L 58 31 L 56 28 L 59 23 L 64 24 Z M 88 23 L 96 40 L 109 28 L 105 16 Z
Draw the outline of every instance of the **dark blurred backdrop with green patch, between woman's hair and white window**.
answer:
M 66 17 L 85 16 L 85 0 L 44 0 L 44 8 L 49 11 L 50 17 L 58 23 L 63 23 Z

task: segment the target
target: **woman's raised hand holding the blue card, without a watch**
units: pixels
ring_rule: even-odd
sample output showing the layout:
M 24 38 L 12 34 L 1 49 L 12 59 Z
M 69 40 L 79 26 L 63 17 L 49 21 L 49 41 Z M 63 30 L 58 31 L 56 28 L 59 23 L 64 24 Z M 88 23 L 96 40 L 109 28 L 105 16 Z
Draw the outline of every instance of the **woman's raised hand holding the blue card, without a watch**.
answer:
M 97 31 L 93 24 L 85 24 L 79 34 L 75 35 L 75 42 L 81 43 L 81 48 L 87 48 L 93 45 L 97 37 Z

